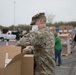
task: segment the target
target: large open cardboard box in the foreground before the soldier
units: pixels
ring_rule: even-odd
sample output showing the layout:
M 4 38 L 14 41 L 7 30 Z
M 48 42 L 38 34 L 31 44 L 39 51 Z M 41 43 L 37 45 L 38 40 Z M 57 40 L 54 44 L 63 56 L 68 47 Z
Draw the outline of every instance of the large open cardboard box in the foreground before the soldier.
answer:
M 5 47 L 5 46 L 4 46 Z M 3 47 L 1 47 L 2 49 Z M 21 48 L 14 47 L 13 52 L 18 50 L 19 52 L 11 56 L 12 60 L 5 67 L 5 54 L 6 51 L 0 50 L 0 75 L 34 75 L 34 56 L 33 55 L 24 55 L 21 52 Z M 4 49 L 4 48 L 3 48 Z M 8 47 L 8 53 L 10 47 Z M 8 54 L 10 55 L 10 54 Z M 14 57 L 14 58 L 13 58 Z

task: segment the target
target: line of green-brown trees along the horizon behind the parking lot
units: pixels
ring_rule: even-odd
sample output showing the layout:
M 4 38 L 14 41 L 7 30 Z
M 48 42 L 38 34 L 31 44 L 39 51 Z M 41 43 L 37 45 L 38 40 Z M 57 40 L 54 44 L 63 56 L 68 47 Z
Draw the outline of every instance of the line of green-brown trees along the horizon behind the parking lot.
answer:
M 71 22 L 55 22 L 55 23 L 47 23 L 47 26 L 62 26 L 62 25 L 72 25 L 73 27 L 76 27 L 76 21 L 71 21 Z M 32 26 L 31 25 L 11 25 L 9 27 L 0 25 L 0 29 L 2 30 L 3 28 L 7 28 L 8 30 L 18 30 L 18 28 L 22 29 L 22 30 L 31 30 Z

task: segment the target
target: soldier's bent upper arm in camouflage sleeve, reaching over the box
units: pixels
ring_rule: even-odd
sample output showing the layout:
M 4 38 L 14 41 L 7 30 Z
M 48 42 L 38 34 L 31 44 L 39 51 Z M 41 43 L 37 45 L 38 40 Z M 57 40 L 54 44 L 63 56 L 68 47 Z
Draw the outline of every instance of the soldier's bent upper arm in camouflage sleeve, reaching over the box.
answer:
M 28 35 L 23 36 L 17 43 L 17 46 L 34 46 L 38 42 L 37 40 L 37 34 L 34 32 L 29 33 Z

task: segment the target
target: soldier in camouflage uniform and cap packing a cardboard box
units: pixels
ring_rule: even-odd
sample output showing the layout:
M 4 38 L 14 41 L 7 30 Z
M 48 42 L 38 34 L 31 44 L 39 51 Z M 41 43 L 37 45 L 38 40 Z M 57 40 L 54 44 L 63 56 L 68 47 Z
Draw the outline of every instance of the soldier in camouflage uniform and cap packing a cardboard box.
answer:
M 34 75 L 55 75 L 54 60 L 54 35 L 46 27 L 45 13 L 39 13 L 32 17 L 32 32 L 24 35 L 17 45 L 24 49 L 25 53 L 33 53 L 35 57 Z M 35 30 L 34 30 L 35 29 Z

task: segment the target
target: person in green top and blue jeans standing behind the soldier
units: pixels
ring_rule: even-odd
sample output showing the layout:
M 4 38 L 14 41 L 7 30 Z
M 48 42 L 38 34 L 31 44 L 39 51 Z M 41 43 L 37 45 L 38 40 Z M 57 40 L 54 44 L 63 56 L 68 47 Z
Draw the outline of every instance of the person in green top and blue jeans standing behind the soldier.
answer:
M 54 46 L 55 62 L 57 63 L 57 66 L 61 66 L 62 65 L 62 59 L 61 59 L 62 44 L 61 44 L 61 39 L 58 36 L 57 32 L 54 33 L 54 36 L 55 36 L 55 46 Z M 58 60 L 58 62 L 57 62 L 57 60 Z

